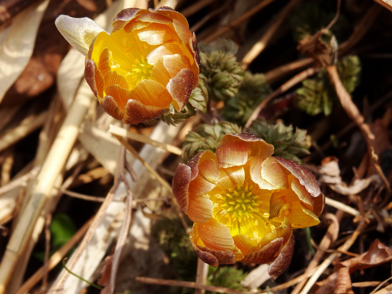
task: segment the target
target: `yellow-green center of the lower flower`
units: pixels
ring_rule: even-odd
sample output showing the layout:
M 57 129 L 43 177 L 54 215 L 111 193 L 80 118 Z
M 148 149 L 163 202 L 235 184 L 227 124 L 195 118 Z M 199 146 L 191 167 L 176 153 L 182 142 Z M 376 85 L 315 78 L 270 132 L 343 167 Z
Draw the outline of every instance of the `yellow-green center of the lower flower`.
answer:
M 259 196 L 252 193 L 253 186 L 237 185 L 233 189 L 229 189 L 227 193 L 218 196 L 217 208 L 218 213 L 228 218 L 230 221 L 238 221 L 253 218 L 254 213 L 258 213 L 260 209 Z

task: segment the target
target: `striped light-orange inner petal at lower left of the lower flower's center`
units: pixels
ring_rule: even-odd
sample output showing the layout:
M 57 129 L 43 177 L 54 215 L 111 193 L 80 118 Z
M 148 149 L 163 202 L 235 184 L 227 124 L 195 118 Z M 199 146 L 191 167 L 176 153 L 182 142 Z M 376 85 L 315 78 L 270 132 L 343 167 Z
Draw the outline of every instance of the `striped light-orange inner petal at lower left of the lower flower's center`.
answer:
M 205 246 L 212 250 L 234 250 L 229 228 L 213 218 L 207 223 L 198 223 L 198 234 Z

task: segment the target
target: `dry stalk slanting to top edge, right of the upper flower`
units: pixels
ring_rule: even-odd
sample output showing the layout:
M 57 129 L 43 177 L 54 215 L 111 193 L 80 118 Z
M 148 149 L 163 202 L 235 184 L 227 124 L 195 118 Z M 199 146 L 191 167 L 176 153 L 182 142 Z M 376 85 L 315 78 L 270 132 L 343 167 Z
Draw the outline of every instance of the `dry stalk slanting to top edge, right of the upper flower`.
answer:
M 285 21 L 287 16 L 290 15 L 292 9 L 298 4 L 300 0 L 291 0 L 279 13 L 275 22 L 267 29 L 267 31 L 263 34 L 261 39 L 253 45 L 253 47 L 248 51 L 248 53 L 242 58 L 241 67 L 245 71 L 249 64 L 267 47 L 268 42 L 274 36 L 276 31 Z

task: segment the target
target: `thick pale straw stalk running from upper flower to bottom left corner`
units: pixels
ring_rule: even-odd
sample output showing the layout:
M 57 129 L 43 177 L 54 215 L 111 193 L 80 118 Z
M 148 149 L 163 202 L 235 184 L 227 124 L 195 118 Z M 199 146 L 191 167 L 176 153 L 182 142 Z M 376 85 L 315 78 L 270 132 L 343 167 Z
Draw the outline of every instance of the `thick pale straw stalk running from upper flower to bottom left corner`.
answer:
M 54 182 L 60 174 L 67 161 L 69 153 L 78 136 L 79 125 L 83 120 L 90 101 L 91 90 L 87 83 L 83 84 L 76 95 L 69 114 L 56 136 L 56 139 L 47 155 L 47 158 L 34 182 L 31 197 L 24 210 L 20 214 L 15 231 L 11 235 L 7 249 L 5 250 L 0 264 L 0 294 L 3 294 L 5 287 L 11 278 L 16 260 L 25 250 L 30 241 L 31 233 L 45 203 L 51 196 Z

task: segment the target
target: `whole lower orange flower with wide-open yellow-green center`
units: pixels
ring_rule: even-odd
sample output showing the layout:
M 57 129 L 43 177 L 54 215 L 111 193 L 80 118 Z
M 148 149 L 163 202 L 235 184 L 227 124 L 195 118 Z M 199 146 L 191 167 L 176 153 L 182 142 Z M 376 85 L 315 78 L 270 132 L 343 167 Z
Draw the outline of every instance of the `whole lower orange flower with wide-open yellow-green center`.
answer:
M 325 198 L 316 179 L 273 151 L 252 134 L 226 134 L 216 154 L 178 165 L 173 193 L 194 221 L 191 243 L 205 263 L 269 263 L 276 278 L 291 260 L 292 229 L 320 222 Z

